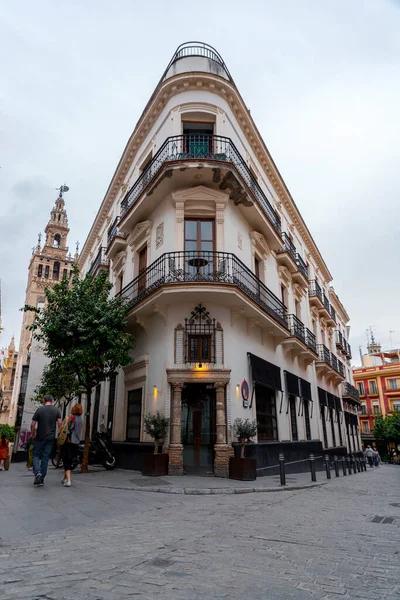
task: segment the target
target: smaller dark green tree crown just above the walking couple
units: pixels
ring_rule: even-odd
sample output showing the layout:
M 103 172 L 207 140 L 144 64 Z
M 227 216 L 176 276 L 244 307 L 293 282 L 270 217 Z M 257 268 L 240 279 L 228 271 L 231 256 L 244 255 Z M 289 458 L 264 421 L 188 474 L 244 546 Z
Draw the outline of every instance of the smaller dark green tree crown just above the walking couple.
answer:
M 50 361 L 43 369 L 33 399 L 43 404 L 43 397 L 50 394 L 58 405 L 61 405 L 61 400 L 65 398 L 67 406 L 80 392 L 85 392 L 86 390 L 79 385 L 75 372 L 67 367 L 66 361 L 57 358 Z

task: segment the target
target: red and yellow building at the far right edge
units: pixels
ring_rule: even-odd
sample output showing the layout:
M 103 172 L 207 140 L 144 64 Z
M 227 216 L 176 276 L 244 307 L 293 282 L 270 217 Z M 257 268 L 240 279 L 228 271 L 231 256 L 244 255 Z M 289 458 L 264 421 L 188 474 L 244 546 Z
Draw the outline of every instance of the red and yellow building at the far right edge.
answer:
M 362 366 L 353 369 L 353 376 L 361 399 L 361 440 L 366 445 L 376 442 L 375 417 L 400 410 L 400 350 L 382 351 L 372 338 L 361 358 Z

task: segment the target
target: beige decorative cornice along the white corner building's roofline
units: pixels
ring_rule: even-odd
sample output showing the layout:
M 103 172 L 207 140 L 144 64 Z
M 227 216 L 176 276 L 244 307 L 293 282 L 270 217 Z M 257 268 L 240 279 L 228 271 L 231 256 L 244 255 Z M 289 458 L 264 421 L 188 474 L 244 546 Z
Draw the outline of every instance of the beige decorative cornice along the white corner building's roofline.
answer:
M 226 102 L 229 104 L 254 154 L 262 165 L 269 181 L 273 185 L 279 201 L 282 202 L 288 217 L 295 225 L 302 239 L 306 243 L 306 246 L 317 267 L 321 271 L 325 281 L 329 283 L 332 280 L 332 275 L 330 274 L 328 267 L 326 266 L 325 261 L 323 260 L 310 231 L 308 230 L 292 196 L 290 195 L 290 192 L 286 187 L 286 184 L 283 181 L 283 178 L 279 173 L 267 147 L 265 146 L 265 143 L 238 90 L 233 84 L 222 77 L 209 73 L 198 72 L 183 73 L 170 77 L 160 82 L 158 88 L 155 90 L 151 102 L 149 102 L 149 104 L 146 106 L 146 109 L 142 113 L 117 165 L 106 195 L 83 246 L 79 261 L 80 265 L 82 266 L 84 264 L 89 249 L 93 244 L 93 238 L 99 234 L 113 205 L 113 202 L 120 192 L 121 186 L 123 185 L 129 169 L 131 168 L 132 162 L 154 122 L 172 96 L 191 89 L 212 91 L 213 93 L 224 98 L 224 100 L 226 100 Z

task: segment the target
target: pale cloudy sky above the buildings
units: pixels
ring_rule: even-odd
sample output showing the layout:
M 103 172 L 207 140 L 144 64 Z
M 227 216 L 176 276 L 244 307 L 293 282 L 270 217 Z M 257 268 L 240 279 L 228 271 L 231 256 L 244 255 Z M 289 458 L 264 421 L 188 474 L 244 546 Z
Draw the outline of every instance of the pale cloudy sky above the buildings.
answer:
M 55 188 L 70 186 L 69 245 L 83 243 L 175 48 L 201 40 L 222 54 L 333 274 L 355 364 L 370 325 L 400 347 L 400 2 L 194 7 L 0 3 L 0 346 L 19 337 Z

